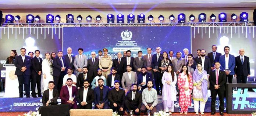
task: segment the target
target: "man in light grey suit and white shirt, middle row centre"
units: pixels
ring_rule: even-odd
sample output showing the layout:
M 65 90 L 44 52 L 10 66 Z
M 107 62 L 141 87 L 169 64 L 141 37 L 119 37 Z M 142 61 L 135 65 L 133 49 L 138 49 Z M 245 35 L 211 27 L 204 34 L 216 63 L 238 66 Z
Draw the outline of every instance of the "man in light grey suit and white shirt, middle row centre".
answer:
M 136 72 L 132 71 L 131 65 L 127 65 L 126 67 L 127 72 L 125 72 L 122 76 L 122 88 L 125 91 L 125 94 L 127 94 L 128 91 L 131 90 L 131 85 L 133 83 L 137 84 L 138 76 Z

